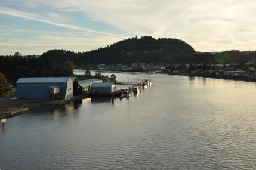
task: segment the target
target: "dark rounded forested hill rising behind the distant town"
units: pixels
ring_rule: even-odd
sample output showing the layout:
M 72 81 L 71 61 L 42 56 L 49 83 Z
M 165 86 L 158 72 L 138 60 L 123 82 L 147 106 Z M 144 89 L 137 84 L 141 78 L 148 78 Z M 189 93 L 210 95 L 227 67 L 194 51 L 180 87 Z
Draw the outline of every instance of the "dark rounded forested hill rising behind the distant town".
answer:
M 141 63 L 184 63 L 190 61 L 196 51 L 186 42 L 179 39 L 159 38 L 151 36 L 129 38 L 107 47 L 88 52 L 72 52 L 66 50 L 49 50 L 48 57 L 57 66 L 67 60 L 74 64 L 131 64 Z

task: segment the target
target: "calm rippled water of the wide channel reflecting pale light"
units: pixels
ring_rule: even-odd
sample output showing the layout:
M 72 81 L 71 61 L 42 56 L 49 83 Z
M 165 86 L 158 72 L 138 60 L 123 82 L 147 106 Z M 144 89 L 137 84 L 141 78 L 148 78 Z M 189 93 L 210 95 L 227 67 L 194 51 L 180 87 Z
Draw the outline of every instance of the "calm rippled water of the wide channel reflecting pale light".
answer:
M 147 78 L 129 73 L 129 82 Z M 255 169 L 255 83 L 150 79 L 129 99 L 85 98 L 8 118 L 0 169 Z

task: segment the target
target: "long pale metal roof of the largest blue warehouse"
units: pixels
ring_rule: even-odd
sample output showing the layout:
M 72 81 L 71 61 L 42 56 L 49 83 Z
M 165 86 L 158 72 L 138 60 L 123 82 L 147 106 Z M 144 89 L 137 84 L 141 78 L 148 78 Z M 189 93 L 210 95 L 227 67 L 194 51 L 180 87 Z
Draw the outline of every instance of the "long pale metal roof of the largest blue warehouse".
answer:
M 66 83 L 71 79 L 77 81 L 76 77 L 48 77 L 48 78 L 20 78 L 18 83 Z

